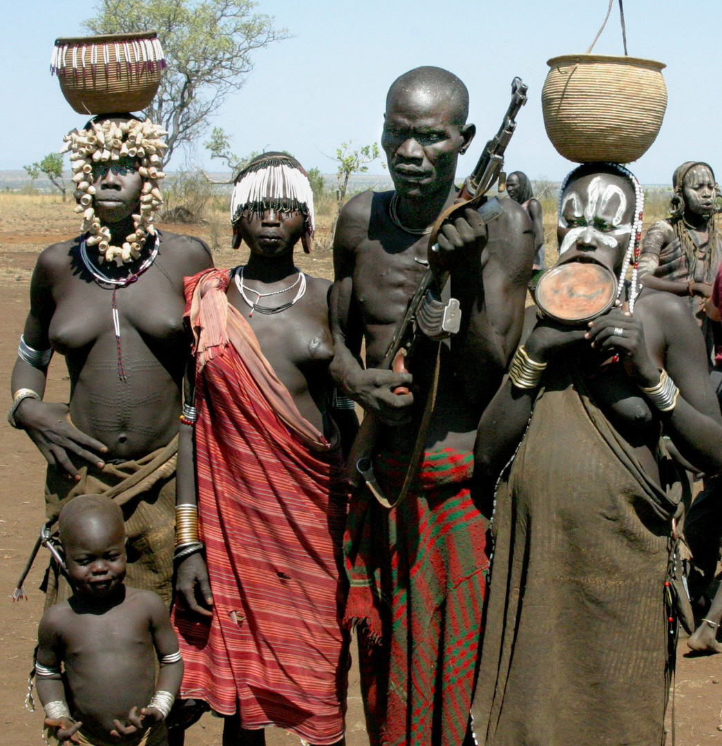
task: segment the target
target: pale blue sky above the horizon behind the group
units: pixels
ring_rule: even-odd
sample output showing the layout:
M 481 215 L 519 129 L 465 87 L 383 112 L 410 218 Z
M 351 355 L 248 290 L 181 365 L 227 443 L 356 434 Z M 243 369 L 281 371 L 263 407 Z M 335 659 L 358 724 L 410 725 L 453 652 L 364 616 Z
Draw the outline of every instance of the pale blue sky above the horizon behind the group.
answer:
M 2 6 L 0 169 L 20 169 L 57 149 L 66 131 L 84 123 L 48 68 L 55 38 L 79 34 L 93 10 L 86 0 L 3 0 Z M 469 120 L 478 134 L 459 162 L 462 176 L 497 130 L 509 84 L 519 75 L 530 99 L 518 116 L 507 169 L 560 181 L 572 164 L 556 154 L 544 133 L 546 61 L 585 51 L 606 7 L 606 0 L 260 0 L 258 10 L 295 37 L 256 54 L 248 84 L 213 123 L 233 136 L 239 154 L 284 149 L 307 168 L 333 172 L 325 154 L 343 140 L 380 140 L 386 90 L 394 78 L 418 65 L 438 65 L 459 75 L 471 95 Z M 665 62 L 669 93 L 659 138 L 632 170 L 643 184 L 668 184 L 682 161 L 708 160 L 722 180 L 722 2 L 626 0 L 624 11 L 630 55 Z M 616 0 L 594 51 L 623 53 Z M 216 168 L 200 144 L 198 157 Z M 182 165 L 179 154 L 171 169 Z M 381 172 L 379 162 L 371 171 Z

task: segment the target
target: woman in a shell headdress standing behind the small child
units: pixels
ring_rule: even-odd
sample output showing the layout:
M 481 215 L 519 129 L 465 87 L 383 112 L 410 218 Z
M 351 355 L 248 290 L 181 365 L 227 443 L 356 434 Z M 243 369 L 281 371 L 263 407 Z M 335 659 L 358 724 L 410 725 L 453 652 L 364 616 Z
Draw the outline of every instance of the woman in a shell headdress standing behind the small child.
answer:
M 202 241 L 155 226 L 164 134 L 108 114 L 66 136 L 81 235 L 38 257 L 8 419 L 48 461 L 48 518 L 76 494 L 111 495 L 125 511 L 129 583 L 170 602 L 183 278 L 213 262 Z M 43 401 L 56 351 L 69 404 Z M 48 604 L 67 593 L 54 570 Z

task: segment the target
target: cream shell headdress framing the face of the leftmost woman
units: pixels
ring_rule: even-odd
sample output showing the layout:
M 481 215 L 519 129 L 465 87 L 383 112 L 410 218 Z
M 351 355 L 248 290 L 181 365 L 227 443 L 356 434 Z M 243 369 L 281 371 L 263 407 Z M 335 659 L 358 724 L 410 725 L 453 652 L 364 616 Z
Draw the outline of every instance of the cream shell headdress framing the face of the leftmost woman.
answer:
M 73 130 L 63 137 L 65 145 L 61 153 L 70 151 L 72 181 L 75 183 L 78 207 L 76 213 L 83 214 L 83 233 L 90 233 L 87 245 L 98 246 L 101 262 L 128 263 L 139 258 L 148 235 L 154 235 L 153 225 L 157 210 L 163 204 L 158 188 L 165 178 L 161 171 L 163 154 L 168 145 L 163 137 L 168 134 L 160 125 L 128 119 L 120 122 L 104 119 L 88 122 L 87 129 Z M 125 237 L 122 246 L 110 244 L 110 228 L 101 225 L 95 216 L 93 196 L 95 186 L 92 175 L 94 163 L 114 163 L 122 157 L 138 160 L 138 172 L 142 178 L 139 198 L 139 214 L 133 216 L 134 232 Z

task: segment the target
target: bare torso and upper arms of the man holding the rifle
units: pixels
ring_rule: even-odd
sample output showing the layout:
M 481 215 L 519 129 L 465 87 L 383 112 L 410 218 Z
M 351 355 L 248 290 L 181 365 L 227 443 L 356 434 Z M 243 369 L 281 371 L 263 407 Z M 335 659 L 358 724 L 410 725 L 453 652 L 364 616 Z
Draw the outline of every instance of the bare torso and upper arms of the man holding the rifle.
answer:
M 448 205 L 455 194 L 455 189 L 448 193 Z M 335 316 L 335 328 L 343 330 L 348 350 L 356 355 L 363 337 L 366 369 L 380 366 L 424 274 L 425 265 L 418 260 L 427 260 L 428 236 L 406 233 L 389 219 L 391 195 L 365 192 L 354 198 L 344 208 L 336 234 L 332 319 Z M 506 213 L 489 224 L 489 239 L 481 255 L 469 252 L 453 260 L 456 265 L 445 295 L 451 293 L 462 303 L 459 337 L 463 342 L 453 339 L 451 345 L 442 346 L 439 392 L 427 448 L 471 449 L 480 411 L 497 389 L 509 347 L 521 330 L 531 266 L 530 226 L 521 207 L 511 201 L 508 205 L 505 201 L 505 207 Z M 463 280 L 456 280 L 456 271 Z M 432 345 L 422 343 L 415 360 L 409 362 L 412 391 L 427 390 L 434 354 Z M 414 406 L 409 420 L 386 428 L 383 443 L 410 450 L 422 410 Z

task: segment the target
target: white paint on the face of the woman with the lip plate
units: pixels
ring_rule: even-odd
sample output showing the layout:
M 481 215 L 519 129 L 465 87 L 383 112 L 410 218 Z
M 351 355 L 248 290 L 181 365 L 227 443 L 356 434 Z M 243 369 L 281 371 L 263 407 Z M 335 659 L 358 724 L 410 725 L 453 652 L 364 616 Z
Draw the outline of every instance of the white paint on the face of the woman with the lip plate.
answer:
M 595 176 L 586 189 L 579 184 L 578 190 L 577 184 L 572 184 L 562 198 L 559 229 L 565 235 L 559 255 L 578 243 L 616 248 L 629 240 L 632 224 L 622 222 L 627 212 L 627 195 L 605 177 Z

